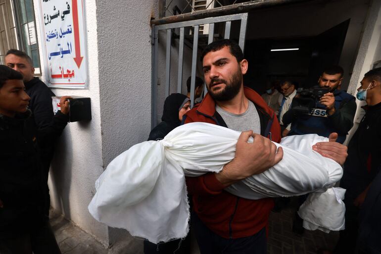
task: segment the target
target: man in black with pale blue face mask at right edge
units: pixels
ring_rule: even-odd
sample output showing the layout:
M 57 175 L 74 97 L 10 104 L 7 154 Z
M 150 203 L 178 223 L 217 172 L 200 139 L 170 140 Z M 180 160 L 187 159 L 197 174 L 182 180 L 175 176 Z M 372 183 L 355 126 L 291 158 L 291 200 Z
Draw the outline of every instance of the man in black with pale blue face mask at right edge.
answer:
M 355 253 L 360 206 L 364 203 L 381 164 L 381 68 L 364 75 L 357 89 L 357 99 L 366 101 L 366 111 L 348 145 L 348 157 L 340 187 L 346 189 L 345 230 L 333 253 Z M 380 222 L 375 221 L 380 225 Z

